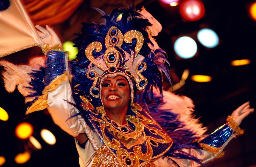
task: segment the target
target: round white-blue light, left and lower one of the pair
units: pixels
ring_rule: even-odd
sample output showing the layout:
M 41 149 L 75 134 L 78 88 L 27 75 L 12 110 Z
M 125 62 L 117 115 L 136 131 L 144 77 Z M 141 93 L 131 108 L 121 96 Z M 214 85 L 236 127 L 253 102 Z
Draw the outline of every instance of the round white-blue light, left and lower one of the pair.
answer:
M 174 42 L 174 51 L 179 57 L 188 59 L 197 53 L 197 44 L 192 38 L 183 36 Z

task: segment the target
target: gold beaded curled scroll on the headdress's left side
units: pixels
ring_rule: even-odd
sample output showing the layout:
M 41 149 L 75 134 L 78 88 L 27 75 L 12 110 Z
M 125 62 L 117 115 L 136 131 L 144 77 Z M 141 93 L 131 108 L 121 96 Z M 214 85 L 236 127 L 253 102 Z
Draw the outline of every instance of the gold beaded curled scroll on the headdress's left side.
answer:
M 85 49 L 85 56 L 87 57 L 87 59 L 92 62 L 95 66 L 97 66 L 98 68 L 100 68 L 102 71 L 106 71 L 106 69 L 104 69 L 102 67 L 101 64 L 96 64 L 95 63 L 95 58 L 93 56 L 93 50 L 96 49 L 96 52 L 100 52 L 102 50 L 102 44 L 101 42 L 98 41 L 94 41 L 91 42 Z

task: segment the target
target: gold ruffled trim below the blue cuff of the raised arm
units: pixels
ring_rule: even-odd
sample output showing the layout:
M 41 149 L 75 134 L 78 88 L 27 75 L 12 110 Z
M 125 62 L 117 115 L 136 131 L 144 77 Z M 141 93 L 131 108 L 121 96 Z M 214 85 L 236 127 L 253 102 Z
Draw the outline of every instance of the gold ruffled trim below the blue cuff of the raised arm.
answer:
M 69 80 L 72 78 L 71 75 L 68 74 L 67 71 L 64 72 L 64 74 L 57 76 L 54 78 L 54 80 L 51 81 L 51 83 L 46 86 L 41 96 L 38 97 L 38 100 L 35 101 L 26 111 L 26 114 L 30 114 L 35 111 L 46 109 L 47 104 L 47 95 L 48 92 L 54 92 L 64 81 L 66 81 L 67 76 L 69 76 Z

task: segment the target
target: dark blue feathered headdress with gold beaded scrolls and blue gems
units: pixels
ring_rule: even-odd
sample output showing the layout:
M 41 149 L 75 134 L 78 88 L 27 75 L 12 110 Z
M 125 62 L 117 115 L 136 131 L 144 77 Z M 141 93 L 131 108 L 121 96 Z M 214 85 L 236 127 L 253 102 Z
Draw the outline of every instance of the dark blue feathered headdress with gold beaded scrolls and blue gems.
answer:
M 103 15 L 100 23 L 82 23 L 81 32 L 75 34 L 75 47 L 80 48 L 73 63 L 76 97 L 85 96 L 99 105 L 103 78 L 121 75 L 130 85 L 131 106 L 137 91 L 142 91 L 143 102 L 150 103 L 153 87 L 162 93 L 162 72 L 170 81 L 166 52 L 151 37 L 151 30 L 157 35 L 161 25 L 154 27 L 148 20 L 153 17 L 144 8 L 135 11 L 133 7 L 120 7 L 110 15 L 97 10 Z

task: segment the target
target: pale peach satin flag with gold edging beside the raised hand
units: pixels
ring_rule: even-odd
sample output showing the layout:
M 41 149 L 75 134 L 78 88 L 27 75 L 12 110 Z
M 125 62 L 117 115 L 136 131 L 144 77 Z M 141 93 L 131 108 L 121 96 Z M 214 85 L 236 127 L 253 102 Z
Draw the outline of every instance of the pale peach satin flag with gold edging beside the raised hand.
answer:
M 10 7 L 0 12 L 0 58 L 37 46 L 41 39 L 19 0 L 10 0 Z

